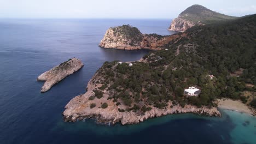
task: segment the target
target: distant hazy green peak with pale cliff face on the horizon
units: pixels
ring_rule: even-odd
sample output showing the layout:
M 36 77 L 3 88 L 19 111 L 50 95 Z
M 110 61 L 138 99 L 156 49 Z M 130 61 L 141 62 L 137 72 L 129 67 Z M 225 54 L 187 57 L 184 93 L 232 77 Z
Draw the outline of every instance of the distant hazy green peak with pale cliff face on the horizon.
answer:
M 191 28 L 193 26 L 200 26 L 213 22 L 234 19 L 237 19 L 237 17 L 220 14 L 210 9 L 207 9 L 202 5 L 195 4 L 179 14 L 179 16 L 172 21 L 168 30 L 184 32 L 188 28 Z

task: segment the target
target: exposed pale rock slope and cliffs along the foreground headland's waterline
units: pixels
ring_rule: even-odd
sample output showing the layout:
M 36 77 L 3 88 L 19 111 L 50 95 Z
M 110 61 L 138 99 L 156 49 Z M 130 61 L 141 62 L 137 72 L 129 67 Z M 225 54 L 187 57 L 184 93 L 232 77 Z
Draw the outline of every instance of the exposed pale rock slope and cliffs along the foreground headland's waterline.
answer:
M 180 105 L 173 105 L 172 102 L 168 102 L 166 109 L 158 109 L 152 107 L 151 110 L 142 112 L 134 111 L 120 111 L 127 109 L 127 106 L 115 105 L 115 103 L 108 99 L 109 93 L 104 91 L 103 97 L 98 99 L 94 98 L 90 100 L 89 98 L 94 96 L 94 89 L 101 87 L 102 84 L 97 84 L 98 79 L 101 79 L 96 73 L 88 83 L 88 91 L 85 94 L 78 95 L 74 97 L 65 106 L 65 111 L 62 113 L 63 118 L 66 122 L 75 122 L 77 120 L 82 120 L 84 118 L 95 118 L 97 122 L 100 123 L 111 123 L 115 124 L 120 122 L 121 124 L 136 124 L 143 122 L 148 118 L 161 117 L 164 115 L 169 115 L 173 113 L 197 113 L 199 115 L 208 116 L 221 116 L 220 112 L 216 107 L 208 108 L 201 107 L 198 108 L 192 105 L 185 105 L 184 107 Z M 101 104 L 107 103 L 108 107 L 106 109 L 101 108 Z M 90 105 L 95 104 L 96 106 L 91 108 Z

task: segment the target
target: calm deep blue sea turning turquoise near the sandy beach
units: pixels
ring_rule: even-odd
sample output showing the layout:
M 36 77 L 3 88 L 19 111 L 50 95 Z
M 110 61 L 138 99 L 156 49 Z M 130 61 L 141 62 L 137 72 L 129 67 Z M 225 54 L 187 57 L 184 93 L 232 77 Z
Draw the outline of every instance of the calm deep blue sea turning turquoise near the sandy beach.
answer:
M 256 118 L 223 110 L 223 117 L 169 115 L 136 125 L 65 123 L 61 113 L 85 93 L 105 61 L 136 61 L 147 50 L 102 49 L 109 27 L 130 24 L 169 35 L 171 20 L 0 19 L 0 143 L 256 143 Z M 84 67 L 40 93 L 37 76 L 67 59 Z

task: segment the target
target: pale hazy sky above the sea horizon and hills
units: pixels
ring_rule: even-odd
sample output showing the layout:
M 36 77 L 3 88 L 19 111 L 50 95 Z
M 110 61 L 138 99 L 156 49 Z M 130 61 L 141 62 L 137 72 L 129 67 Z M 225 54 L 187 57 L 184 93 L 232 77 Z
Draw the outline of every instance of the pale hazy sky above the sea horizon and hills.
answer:
M 0 0 L 0 17 L 172 19 L 193 4 L 232 16 L 256 14 L 256 0 Z

